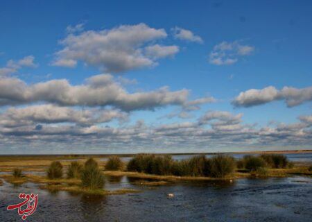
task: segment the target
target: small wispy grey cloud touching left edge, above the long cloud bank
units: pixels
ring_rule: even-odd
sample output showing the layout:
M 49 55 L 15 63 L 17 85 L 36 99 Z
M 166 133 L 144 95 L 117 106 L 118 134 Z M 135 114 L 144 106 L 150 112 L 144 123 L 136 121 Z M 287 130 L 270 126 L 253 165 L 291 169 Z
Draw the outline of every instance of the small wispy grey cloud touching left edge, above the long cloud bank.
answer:
M 8 74 L 14 74 L 19 69 L 23 67 L 31 67 L 35 68 L 37 65 L 34 62 L 35 57 L 34 56 L 25 56 L 24 58 L 21 58 L 20 60 L 8 60 L 6 63 L 6 67 L 0 68 L 0 76 L 6 76 Z

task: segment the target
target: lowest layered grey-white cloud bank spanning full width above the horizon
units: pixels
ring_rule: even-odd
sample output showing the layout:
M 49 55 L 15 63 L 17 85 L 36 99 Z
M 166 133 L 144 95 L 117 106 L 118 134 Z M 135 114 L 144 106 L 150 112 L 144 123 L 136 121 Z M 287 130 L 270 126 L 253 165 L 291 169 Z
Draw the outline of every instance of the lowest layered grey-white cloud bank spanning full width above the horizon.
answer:
M 51 108 L 55 107 L 51 106 Z M 242 114 L 214 110 L 202 115 L 198 121 L 148 126 L 140 120 L 135 124 L 127 123 L 122 127 L 112 127 L 96 123 L 85 125 L 85 121 L 80 123 L 79 119 L 87 121 L 89 115 L 79 110 L 61 110 L 60 113 L 55 111 L 55 114 L 51 114 L 50 117 L 46 111 L 43 113 L 37 111 L 37 109 L 49 110 L 49 106 L 46 108 L 34 106 L 30 109 L 36 111 L 29 111 L 29 114 L 25 114 L 21 110 L 14 110 L 14 116 L 6 116 L 8 112 L 2 114 L 1 151 L 5 151 L 7 147 L 18 150 L 20 146 L 28 147 L 27 151 L 40 150 L 46 153 L 51 151 L 51 148 L 55 153 L 68 152 L 71 147 L 75 147 L 73 151 L 76 152 L 85 152 L 87 148 L 88 152 L 101 153 L 105 152 L 103 148 L 109 148 L 107 151 L 110 152 L 115 149 L 116 151 L 126 149 L 135 152 L 155 152 L 160 151 L 159 148 L 162 147 L 166 148 L 166 151 L 174 151 L 175 148 L 179 148 L 180 151 L 189 151 L 190 147 L 196 148 L 197 151 L 211 147 L 218 151 L 220 147 L 290 146 L 302 148 L 312 142 L 311 123 L 307 123 L 309 117 L 306 116 L 299 117 L 298 123 L 277 123 L 276 126 L 256 128 L 254 125 L 244 124 L 241 119 Z M 58 110 L 58 107 L 56 109 Z M 21 119 L 20 123 L 25 124 L 15 125 L 18 121 L 14 118 Z M 62 124 L 58 124 L 60 122 Z M 76 126 L 72 126 L 72 122 L 76 123 Z

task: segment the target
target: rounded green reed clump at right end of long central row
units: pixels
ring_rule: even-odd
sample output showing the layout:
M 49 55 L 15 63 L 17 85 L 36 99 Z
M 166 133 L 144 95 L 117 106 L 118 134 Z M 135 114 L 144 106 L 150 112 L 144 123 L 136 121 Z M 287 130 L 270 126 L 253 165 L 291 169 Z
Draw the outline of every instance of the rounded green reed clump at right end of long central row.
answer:
M 233 173 L 236 168 L 236 162 L 229 155 L 216 155 L 209 160 L 209 176 L 214 178 L 224 178 Z

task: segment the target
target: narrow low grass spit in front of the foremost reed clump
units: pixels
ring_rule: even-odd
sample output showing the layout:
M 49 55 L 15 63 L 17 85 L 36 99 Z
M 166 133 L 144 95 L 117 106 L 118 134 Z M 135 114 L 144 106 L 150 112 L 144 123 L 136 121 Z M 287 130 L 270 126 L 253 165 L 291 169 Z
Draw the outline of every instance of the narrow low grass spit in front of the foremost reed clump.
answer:
M 69 191 L 77 194 L 90 194 L 90 195 L 116 195 L 116 194 L 130 194 L 138 193 L 136 189 L 117 189 L 113 191 L 107 191 L 105 189 L 87 189 L 80 186 L 68 186 L 68 185 L 42 185 L 41 189 L 48 189 L 50 191 Z

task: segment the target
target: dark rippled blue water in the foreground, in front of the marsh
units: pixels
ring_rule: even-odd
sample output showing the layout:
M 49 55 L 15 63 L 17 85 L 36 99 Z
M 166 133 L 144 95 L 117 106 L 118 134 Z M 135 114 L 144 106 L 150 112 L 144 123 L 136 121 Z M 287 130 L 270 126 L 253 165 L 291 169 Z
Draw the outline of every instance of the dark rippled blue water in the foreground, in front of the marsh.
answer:
M 241 179 L 229 182 L 178 182 L 139 187 L 123 176 L 107 178 L 106 189 L 141 189 L 139 194 L 90 198 L 66 191 L 51 193 L 27 183 L 0 187 L 0 221 L 21 221 L 6 206 L 20 192 L 39 194 L 28 221 L 311 221 L 312 178 Z M 166 194 L 175 194 L 167 198 Z

